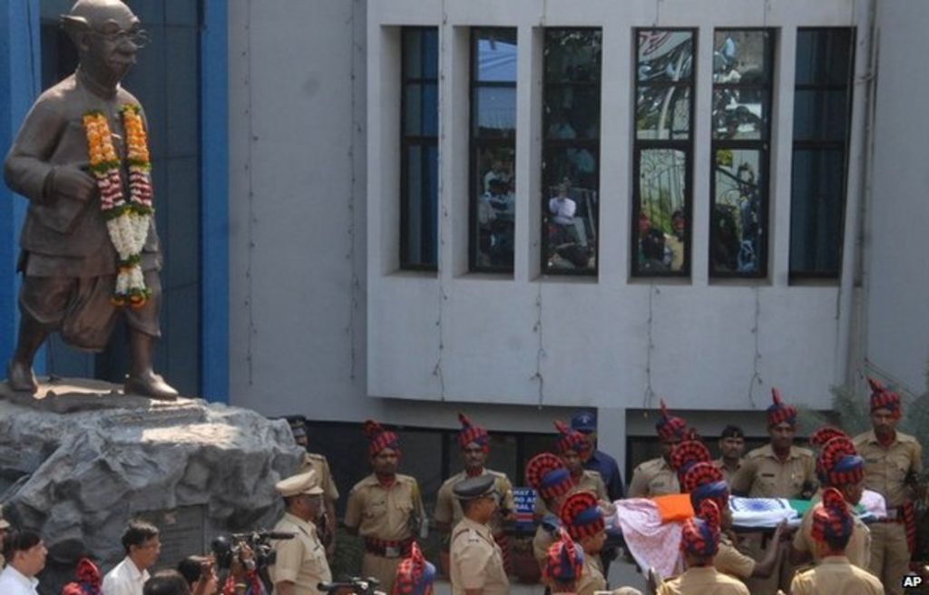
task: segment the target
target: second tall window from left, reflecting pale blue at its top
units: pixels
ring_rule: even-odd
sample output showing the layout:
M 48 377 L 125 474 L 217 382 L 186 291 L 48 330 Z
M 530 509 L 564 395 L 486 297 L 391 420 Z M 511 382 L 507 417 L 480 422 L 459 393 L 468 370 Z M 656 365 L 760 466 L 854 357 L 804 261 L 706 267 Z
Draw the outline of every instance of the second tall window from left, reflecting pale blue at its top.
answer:
M 471 31 L 471 270 L 513 271 L 517 30 Z

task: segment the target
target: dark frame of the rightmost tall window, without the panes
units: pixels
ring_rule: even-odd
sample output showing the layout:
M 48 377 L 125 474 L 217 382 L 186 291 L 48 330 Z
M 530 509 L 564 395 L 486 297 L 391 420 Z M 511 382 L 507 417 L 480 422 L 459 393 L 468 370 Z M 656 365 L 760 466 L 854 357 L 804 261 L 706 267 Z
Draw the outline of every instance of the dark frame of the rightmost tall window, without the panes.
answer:
M 810 279 L 822 279 L 822 280 L 838 280 L 842 276 L 842 261 L 844 257 L 844 242 L 845 242 L 845 217 L 847 216 L 848 210 L 848 173 L 849 173 L 849 147 L 851 144 L 852 136 L 852 112 L 854 110 L 854 100 L 855 100 L 855 64 L 857 60 L 857 27 L 798 27 L 797 35 L 801 32 L 849 32 L 849 42 L 848 42 L 848 76 L 844 84 L 837 83 L 796 83 L 796 74 L 794 74 L 794 84 L 793 84 L 793 95 L 796 97 L 797 91 L 840 91 L 844 90 L 847 97 L 847 102 L 845 104 L 845 138 L 844 140 L 817 140 L 817 139 L 808 139 L 803 140 L 792 140 L 791 147 L 791 209 L 793 209 L 793 191 L 794 191 L 794 180 L 793 180 L 793 161 L 794 156 L 799 151 L 809 151 L 809 152 L 829 152 L 829 151 L 842 151 L 843 153 L 843 171 L 842 171 L 842 209 L 840 213 L 839 220 L 839 240 L 836 254 L 836 262 L 838 264 L 836 270 L 834 271 L 795 271 L 792 268 L 792 257 L 793 252 L 793 234 L 794 228 L 791 224 L 790 229 L 790 243 L 789 251 L 787 258 L 788 265 L 788 281 L 792 283 L 793 281 L 803 281 Z M 796 134 L 793 130 L 795 123 L 791 123 L 792 138 L 795 138 Z

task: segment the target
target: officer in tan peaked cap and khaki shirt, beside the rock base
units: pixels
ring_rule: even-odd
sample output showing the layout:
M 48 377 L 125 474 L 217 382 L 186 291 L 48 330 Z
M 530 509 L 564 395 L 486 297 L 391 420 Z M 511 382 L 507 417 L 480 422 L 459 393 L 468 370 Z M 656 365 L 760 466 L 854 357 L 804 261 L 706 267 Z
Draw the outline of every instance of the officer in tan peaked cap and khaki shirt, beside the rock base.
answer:
M 274 486 L 284 498 L 284 516 L 275 531 L 294 534 L 274 542 L 277 553 L 269 567 L 275 595 L 317 595 L 317 585 L 333 579 L 326 550 L 316 533 L 322 513 L 322 488 L 316 472 L 308 471 L 281 480 Z

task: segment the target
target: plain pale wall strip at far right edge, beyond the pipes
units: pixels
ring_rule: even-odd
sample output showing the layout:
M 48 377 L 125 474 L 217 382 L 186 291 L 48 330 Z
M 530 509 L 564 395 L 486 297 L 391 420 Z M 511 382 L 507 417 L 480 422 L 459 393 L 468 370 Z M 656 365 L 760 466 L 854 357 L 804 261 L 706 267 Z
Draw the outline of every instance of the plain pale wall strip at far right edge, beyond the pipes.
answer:
M 881 52 L 874 184 L 866 227 L 867 361 L 921 394 L 929 366 L 929 3 L 879 3 Z

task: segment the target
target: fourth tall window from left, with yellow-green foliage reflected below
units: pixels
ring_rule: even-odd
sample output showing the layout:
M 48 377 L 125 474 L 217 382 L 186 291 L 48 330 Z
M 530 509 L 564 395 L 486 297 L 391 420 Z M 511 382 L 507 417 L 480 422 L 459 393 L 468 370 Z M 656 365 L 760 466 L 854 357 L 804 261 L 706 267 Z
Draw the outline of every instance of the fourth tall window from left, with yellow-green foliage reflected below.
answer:
M 690 273 L 696 42 L 694 30 L 636 30 L 635 276 Z

